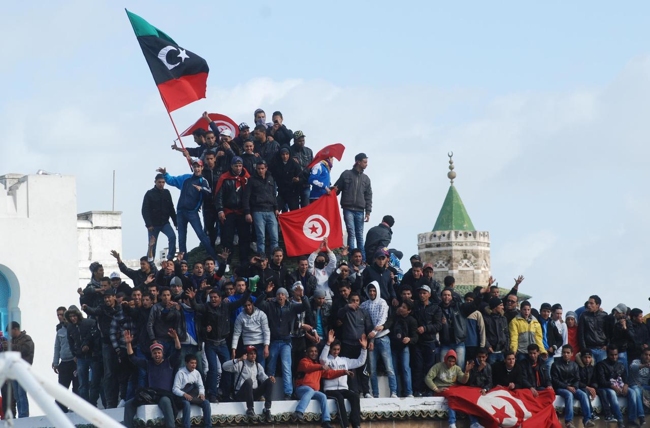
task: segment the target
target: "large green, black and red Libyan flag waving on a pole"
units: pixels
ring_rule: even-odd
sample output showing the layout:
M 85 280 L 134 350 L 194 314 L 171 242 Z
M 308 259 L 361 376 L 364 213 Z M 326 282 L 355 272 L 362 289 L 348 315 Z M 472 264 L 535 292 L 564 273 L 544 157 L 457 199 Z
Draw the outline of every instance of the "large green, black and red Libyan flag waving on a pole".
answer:
M 205 98 L 207 62 L 170 36 L 126 11 L 168 112 Z

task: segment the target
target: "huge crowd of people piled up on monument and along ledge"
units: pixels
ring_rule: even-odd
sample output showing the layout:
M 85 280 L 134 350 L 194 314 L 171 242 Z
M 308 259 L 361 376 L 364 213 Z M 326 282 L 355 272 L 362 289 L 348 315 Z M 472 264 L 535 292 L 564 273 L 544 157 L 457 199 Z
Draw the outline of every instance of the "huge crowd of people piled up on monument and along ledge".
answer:
M 140 268 L 128 268 L 112 251 L 120 273 L 106 276 L 92 263 L 79 305 L 57 310 L 52 368 L 64 386 L 72 384 L 93 405 L 124 407 L 127 427 L 138 405 L 157 404 L 170 427 L 178 410 L 190 426 L 188 410 L 198 405 L 211 426 L 211 403 L 245 402 L 246 414 L 259 418 L 253 403 L 262 399 L 262 417 L 271 422 L 272 389 L 281 374 L 284 398 L 299 401 L 295 420 L 304 420 L 316 399 L 322 425 L 330 427 L 329 397 L 343 426 L 357 428 L 360 398 L 380 396 L 380 372 L 390 397 L 434 396 L 454 384 L 482 394 L 496 386 L 533 396 L 552 388 L 565 399 L 567 428 L 574 426 L 573 401 L 582 407 L 584 426 L 594 426 L 595 396 L 604 420 L 625 426 L 617 397 L 626 396 L 627 426 L 645 423 L 650 333 L 642 310 L 621 303 L 607 312 L 595 295 L 565 314 L 560 303 L 537 310 L 519 302 L 522 276 L 505 296 L 491 277 L 461 295 L 454 277 L 439 283 L 432 264 L 418 255 L 405 272 L 402 252 L 390 248 L 391 216 L 363 239 L 372 208 L 364 153 L 332 185 L 333 158 L 307 168 L 313 152 L 305 135 L 287 129 L 280 112 L 266 123 L 265 112 L 255 110 L 253 132 L 241 123 L 237 138 L 204 118 L 209 131 L 194 132 L 198 147 L 172 147 L 193 173 L 173 177 L 159 168 L 144 196 L 149 242 Z M 181 189 L 175 207 L 166 184 Z M 341 194 L 347 245 L 335 253 L 323 238 L 289 270 L 278 246 L 279 212 L 331 192 Z M 208 254 L 191 264 L 187 223 Z M 161 232 L 169 251 L 156 266 Z M 233 251 L 239 251 L 236 266 Z M 19 326 L 14 330 L 19 337 Z M 27 403 L 18 405 L 19 416 L 29 414 Z M 473 428 L 482 426 L 470 418 Z M 455 423 L 450 409 L 450 428 Z

